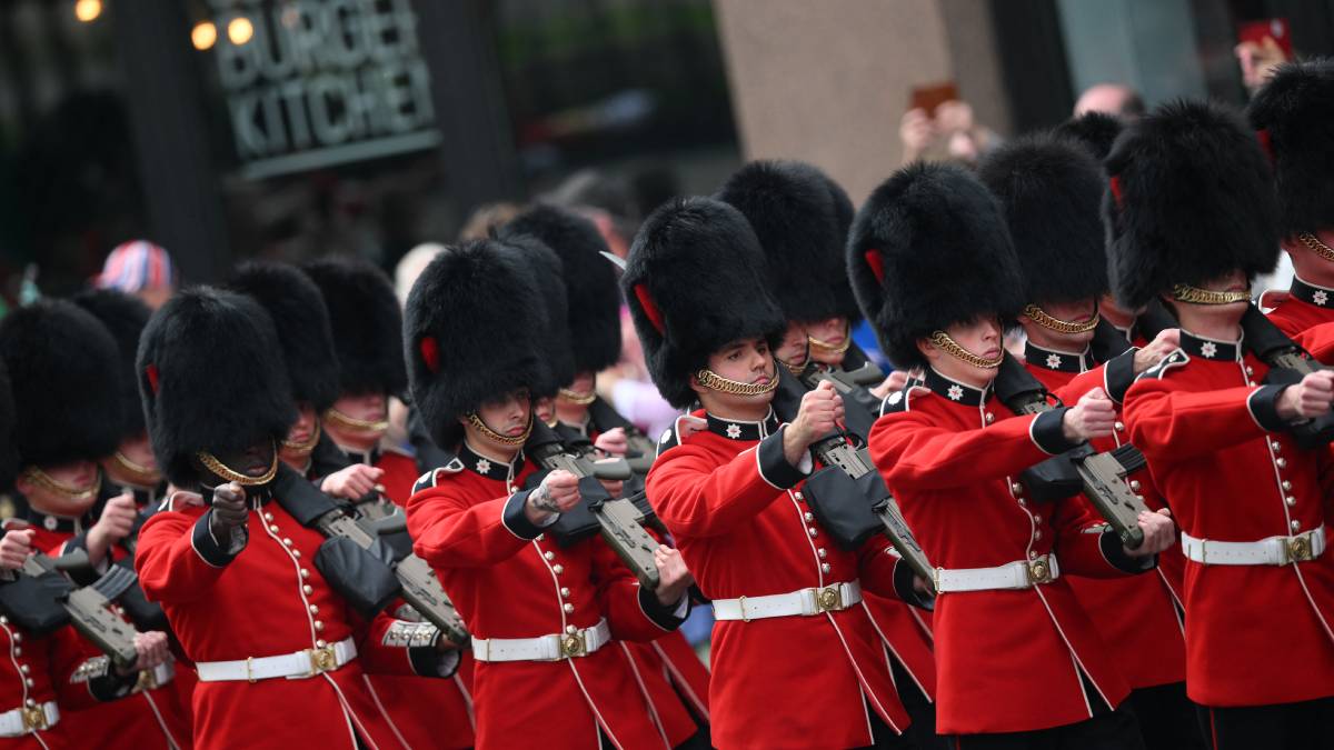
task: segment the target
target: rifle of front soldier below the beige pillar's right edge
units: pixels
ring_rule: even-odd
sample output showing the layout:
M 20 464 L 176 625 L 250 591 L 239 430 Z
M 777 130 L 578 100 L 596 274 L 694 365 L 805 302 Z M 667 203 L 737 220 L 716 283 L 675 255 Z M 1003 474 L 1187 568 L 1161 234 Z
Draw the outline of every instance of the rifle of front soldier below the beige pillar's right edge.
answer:
M 1042 414 L 1055 408 L 1047 402 L 1043 384 L 1011 355 L 1005 355 L 994 382 L 996 396 L 1015 414 Z M 1021 480 L 1038 502 L 1053 502 L 1083 492 L 1113 527 L 1121 542 L 1135 548 L 1145 542 L 1139 514 L 1147 507 L 1129 486 L 1126 476 L 1146 466 L 1139 448 L 1126 443 L 1109 452 L 1097 452 L 1083 443 L 1023 471 Z

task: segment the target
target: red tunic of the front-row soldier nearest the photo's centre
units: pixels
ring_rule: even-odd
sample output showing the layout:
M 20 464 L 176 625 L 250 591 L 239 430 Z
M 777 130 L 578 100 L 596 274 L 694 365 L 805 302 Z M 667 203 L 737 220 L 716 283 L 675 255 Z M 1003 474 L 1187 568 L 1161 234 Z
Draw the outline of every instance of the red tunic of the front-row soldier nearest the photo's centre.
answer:
M 783 458 L 776 420 L 708 422 L 710 430 L 660 452 L 647 482 L 658 518 L 706 597 L 787 594 L 858 579 L 895 595 L 896 558 L 887 540 L 859 551 L 830 544 L 806 508 L 803 475 Z M 719 747 L 870 745 L 870 710 L 899 733 L 908 725 L 864 607 L 718 622 L 710 661 Z

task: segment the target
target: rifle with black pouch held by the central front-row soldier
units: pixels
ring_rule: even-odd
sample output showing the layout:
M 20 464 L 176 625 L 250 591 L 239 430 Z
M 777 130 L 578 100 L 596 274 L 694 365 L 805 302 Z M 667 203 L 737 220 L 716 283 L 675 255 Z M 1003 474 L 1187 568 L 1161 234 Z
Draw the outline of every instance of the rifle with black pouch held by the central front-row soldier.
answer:
M 880 380 L 878 374 L 876 370 L 876 383 Z M 834 380 L 835 390 L 839 388 L 839 383 L 856 382 L 851 374 L 843 375 L 848 379 L 828 378 Z M 862 383 L 864 382 L 863 376 Z M 791 375 L 786 367 L 779 366 L 774 408 L 780 416 L 784 419 L 795 418 L 806 391 L 807 387 L 800 380 Z M 931 582 L 935 581 L 935 569 L 926 552 L 922 551 L 916 538 L 912 536 L 912 530 L 903 519 L 898 500 L 890 494 L 884 479 L 871 462 L 870 451 L 864 446 L 848 444 L 848 436 L 846 431 L 832 432 L 811 444 L 811 452 L 820 459 L 826 468 L 806 479 L 803 484 L 806 504 L 810 506 L 820 526 L 828 530 L 844 548 L 860 547 L 872 534 L 883 532 L 899 556 L 912 567 L 912 573 L 927 582 L 927 587 L 934 595 L 935 590 Z

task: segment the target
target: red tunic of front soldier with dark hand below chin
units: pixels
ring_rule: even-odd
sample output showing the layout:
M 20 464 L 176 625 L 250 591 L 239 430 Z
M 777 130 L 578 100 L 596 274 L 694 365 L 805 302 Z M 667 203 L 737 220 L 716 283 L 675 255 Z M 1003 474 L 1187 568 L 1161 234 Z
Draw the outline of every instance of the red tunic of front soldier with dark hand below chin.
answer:
M 355 731 L 376 747 L 398 747 L 362 681 L 363 666 L 410 671 L 403 649 L 382 645 L 390 618 L 363 625 L 313 565 L 324 536 L 277 502 L 252 511 L 245 528 L 235 556 L 212 540 L 204 507 L 164 508 L 140 531 L 139 581 L 185 654 L 193 662 L 275 657 L 355 635 L 359 658 L 303 679 L 200 682 L 196 746 L 355 747 Z

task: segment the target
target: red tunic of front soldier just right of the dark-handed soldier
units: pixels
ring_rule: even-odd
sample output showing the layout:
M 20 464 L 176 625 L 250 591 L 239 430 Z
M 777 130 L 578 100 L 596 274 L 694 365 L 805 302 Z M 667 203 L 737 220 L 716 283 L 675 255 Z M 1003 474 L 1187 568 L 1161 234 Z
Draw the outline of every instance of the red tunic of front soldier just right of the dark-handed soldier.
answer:
M 474 638 L 536 638 L 606 619 L 614 639 L 652 641 L 679 621 L 659 613 L 602 538 L 570 547 L 527 522 L 535 471 L 462 458 L 419 482 L 408 502 L 414 550 L 440 575 Z M 656 619 L 655 619 L 656 618 Z M 671 622 L 667 622 L 671 621 Z M 626 654 L 615 642 L 558 662 L 476 662 L 478 747 L 503 747 L 540 733 L 544 747 L 664 747 Z

